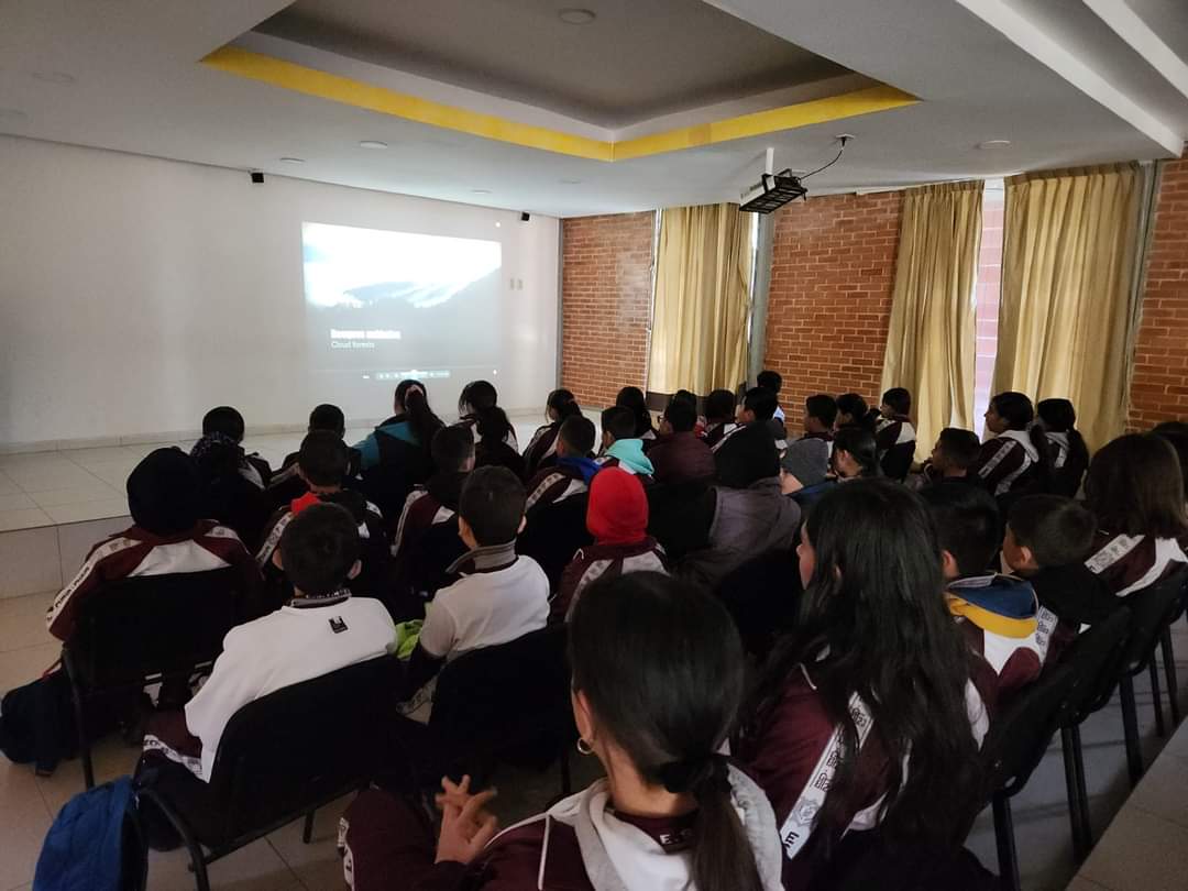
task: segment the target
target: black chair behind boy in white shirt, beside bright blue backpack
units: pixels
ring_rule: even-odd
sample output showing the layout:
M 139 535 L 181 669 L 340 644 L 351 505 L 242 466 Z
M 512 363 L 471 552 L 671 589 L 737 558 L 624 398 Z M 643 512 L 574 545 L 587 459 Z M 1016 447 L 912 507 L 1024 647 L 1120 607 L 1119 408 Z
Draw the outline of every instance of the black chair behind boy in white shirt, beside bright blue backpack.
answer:
M 159 809 L 182 836 L 198 891 L 208 865 L 299 817 L 309 843 L 315 811 L 381 771 L 399 672 L 383 656 L 248 703 L 223 731 L 209 783 L 172 763 L 138 777 L 141 810 Z

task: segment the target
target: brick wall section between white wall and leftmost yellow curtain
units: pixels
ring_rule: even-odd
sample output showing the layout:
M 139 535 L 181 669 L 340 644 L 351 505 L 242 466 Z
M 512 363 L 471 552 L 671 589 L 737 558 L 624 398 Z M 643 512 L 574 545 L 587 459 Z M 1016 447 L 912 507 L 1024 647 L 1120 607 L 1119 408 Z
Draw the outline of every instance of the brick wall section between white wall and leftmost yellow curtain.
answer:
M 656 214 L 562 220 L 562 386 L 586 405 L 643 388 Z

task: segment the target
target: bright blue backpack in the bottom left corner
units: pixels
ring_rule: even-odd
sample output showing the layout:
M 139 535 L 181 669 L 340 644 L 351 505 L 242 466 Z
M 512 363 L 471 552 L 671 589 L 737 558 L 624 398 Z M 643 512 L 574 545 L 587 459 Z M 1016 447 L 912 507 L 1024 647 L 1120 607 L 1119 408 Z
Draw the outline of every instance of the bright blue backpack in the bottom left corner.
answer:
M 147 871 L 132 778 L 120 777 L 62 808 L 37 859 L 33 891 L 143 891 Z

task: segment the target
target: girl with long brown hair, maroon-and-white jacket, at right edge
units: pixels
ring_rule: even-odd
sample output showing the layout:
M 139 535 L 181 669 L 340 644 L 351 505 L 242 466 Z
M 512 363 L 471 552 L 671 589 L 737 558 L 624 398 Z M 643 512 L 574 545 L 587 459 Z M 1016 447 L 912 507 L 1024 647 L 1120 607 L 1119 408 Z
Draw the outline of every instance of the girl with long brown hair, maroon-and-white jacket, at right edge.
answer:
M 1098 533 L 1085 565 L 1125 598 L 1184 562 L 1184 488 L 1175 449 L 1154 434 L 1127 434 L 1105 446 L 1085 478 L 1085 506 Z

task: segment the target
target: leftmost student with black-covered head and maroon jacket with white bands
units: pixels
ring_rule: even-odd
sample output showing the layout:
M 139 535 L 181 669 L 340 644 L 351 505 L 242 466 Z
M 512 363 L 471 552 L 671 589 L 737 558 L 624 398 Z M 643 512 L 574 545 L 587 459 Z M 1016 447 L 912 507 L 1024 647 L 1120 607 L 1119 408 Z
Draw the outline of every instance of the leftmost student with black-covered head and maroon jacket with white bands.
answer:
M 45 615 L 53 637 L 69 642 L 82 604 L 122 579 L 232 567 L 242 586 L 240 593 L 255 595 L 260 574 L 239 536 L 215 520 L 201 519 L 201 480 L 184 451 L 148 453 L 128 475 L 127 493 L 133 525 L 91 548 L 74 579 L 58 592 Z

